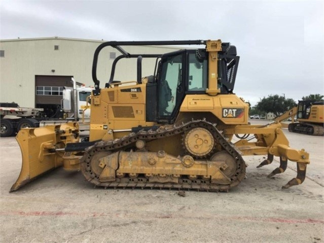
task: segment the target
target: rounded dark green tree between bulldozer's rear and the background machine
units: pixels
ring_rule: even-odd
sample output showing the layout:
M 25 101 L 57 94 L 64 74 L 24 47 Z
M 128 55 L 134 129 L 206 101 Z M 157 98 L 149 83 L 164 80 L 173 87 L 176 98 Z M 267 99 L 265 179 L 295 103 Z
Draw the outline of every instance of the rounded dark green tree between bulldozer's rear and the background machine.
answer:
M 272 112 L 276 116 L 286 112 L 289 109 L 297 106 L 296 102 L 291 98 L 285 98 L 283 96 L 268 95 L 258 102 L 257 109 L 266 113 Z

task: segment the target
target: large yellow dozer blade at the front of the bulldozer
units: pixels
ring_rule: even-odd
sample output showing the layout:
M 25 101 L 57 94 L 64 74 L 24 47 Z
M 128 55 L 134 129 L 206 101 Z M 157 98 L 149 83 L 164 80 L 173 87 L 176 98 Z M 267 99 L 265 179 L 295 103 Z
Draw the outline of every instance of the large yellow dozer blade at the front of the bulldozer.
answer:
M 79 142 L 78 123 L 21 129 L 16 140 L 22 154 L 20 175 L 10 192 L 63 163 L 66 143 Z M 63 149 L 63 151 L 57 151 Z

